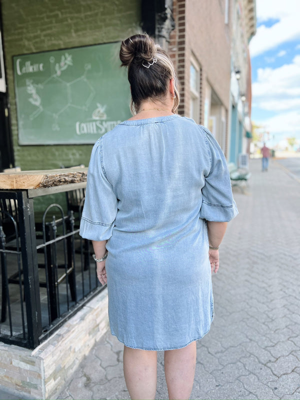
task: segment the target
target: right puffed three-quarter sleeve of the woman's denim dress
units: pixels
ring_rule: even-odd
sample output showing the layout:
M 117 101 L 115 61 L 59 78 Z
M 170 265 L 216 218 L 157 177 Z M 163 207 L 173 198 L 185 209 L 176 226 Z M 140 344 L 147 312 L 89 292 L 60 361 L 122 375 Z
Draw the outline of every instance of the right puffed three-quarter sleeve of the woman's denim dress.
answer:
M 210 160 L 210 169 L 202 188 L 200 218 L 207 221 L 227 222 L 237 214 L 233 200 L 226 158 L 210 131 L 203 126 L 204 139 Z

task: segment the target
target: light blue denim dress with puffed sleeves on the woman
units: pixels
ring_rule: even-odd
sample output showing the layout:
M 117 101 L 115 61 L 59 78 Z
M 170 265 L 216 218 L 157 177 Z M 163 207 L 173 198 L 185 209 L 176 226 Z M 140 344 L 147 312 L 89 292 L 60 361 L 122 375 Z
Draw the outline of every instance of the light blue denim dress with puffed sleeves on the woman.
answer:
M 237 214 L 211 133 L 178 115 L 126 120 L 95 143 L 80 235 L 107 239 L 111 333 L 128 347 L 181 348 L 213 318 L 206 220 Z

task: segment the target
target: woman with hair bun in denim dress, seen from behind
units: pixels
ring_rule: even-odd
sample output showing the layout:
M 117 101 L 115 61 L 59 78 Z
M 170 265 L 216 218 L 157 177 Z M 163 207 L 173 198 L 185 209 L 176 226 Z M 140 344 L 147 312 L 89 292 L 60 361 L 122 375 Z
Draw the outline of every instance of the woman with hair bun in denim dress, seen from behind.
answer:
M 178 82 L 166 52 L 136 34 L 119 56 L 132 117 L 93 147 L 80 234 L 92 240 L 98 279 L 107 283 L 130 397 L 155 398 L 163 350 L 169 398 L 187 399 L 196 340 L 213 318 L 211 273 L 237 209 L 218 143 L 176 114 Z

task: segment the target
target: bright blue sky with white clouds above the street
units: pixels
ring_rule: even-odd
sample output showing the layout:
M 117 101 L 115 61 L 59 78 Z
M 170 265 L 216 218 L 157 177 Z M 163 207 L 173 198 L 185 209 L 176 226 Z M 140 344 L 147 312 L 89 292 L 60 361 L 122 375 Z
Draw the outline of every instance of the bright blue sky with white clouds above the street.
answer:
M 269 132 L 269 144 L 300 144 L 300 0 L 256 0 L 256 18 L 251 120 Z

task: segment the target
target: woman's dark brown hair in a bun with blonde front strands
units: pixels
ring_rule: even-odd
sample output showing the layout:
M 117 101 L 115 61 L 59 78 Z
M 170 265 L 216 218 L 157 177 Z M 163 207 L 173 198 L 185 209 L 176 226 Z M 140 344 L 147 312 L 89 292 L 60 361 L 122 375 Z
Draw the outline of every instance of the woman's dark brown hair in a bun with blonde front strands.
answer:
M 138 111 L 142 100 L 164 97 L 171 78 L 174 78 L 176 96 L 172 111 L 177 110 L 179 90 L 174 65 L 167 53 L 156 45 L 153 39 L 147 34 L 130 36 L 122 41 L 119 56 L 121 66 L 128 67 L 132 114 Z M 156 62 L 153 62 L 155 59 Z

